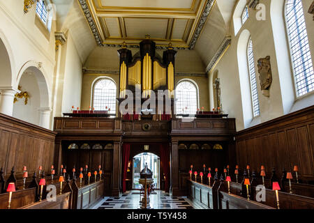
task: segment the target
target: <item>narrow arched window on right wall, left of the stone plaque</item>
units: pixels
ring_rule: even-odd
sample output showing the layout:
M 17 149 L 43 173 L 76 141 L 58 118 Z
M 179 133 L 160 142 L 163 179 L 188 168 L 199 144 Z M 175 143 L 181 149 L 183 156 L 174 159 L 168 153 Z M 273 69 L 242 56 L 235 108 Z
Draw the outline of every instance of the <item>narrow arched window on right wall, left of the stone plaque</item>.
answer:
M 258 100 L 254 56 L 253 56 L 253 43 L 252 43 L 251 38 L 248 40 L 248 72 L 250 74 L 253 116 L 255 117 L 255 116 L 260 115 L 260 101 Z

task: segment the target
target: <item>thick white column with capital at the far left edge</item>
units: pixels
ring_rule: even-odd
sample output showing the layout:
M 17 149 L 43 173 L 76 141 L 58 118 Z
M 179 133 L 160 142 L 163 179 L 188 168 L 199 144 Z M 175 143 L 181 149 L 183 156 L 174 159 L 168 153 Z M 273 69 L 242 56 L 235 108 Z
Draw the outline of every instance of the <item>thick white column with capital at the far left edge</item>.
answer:
M 0 88 L 0 113 L 13 115 L 13 100 L 18 90 L 12 88 Z

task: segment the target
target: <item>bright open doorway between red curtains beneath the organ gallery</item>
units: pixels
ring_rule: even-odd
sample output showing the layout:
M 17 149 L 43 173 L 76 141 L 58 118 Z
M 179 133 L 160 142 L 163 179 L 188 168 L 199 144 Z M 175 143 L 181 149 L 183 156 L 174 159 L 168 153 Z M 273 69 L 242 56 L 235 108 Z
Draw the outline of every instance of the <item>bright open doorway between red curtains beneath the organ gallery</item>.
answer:
M 160 189 L 160 157 L 154 153 L 140 153 L 133 157 L 133 189 L 141 189 L 140 172 L 147 163 L 148 169 L 153 171 L 153 179 L 156 189 Z

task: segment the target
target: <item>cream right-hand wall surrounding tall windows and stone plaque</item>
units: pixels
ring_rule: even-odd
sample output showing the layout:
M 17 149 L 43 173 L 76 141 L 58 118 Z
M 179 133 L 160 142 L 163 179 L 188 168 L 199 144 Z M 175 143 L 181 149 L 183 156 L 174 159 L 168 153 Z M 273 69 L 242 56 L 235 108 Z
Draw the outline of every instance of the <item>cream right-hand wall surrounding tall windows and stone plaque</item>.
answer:
M 294 88 L 291 86 L 292 84 L 289 84 L 289 82 L 293 83 L 291 67 L 289 66 L 290 61 L 283 62 L 283 60 L 287 60 L 287 58 L 280 56 L 280 54 L 278 54 L 278 50 L 276 54 L 276 47 L 279 49 L 279 52 L 282 52 L 282 47 L 287 47 L 287 43 L 275 42 L 277 39 L 276 33 L 274 34 L 273 30 L 275 29 L 277 31 L 278 27 L 273 27 L 272 24 L 274 22 L 271 20 L 274 17 L 274 14 L 271 14 L 271 12 L 274 11 L 274 8 L 271 8 L 271 3 L 272 6 L 274 6 L 274 1 L 283 0 L 260 1 L 260 3 L 263 3 L 266 6 L 266 20 L 264 21 L 257 21 L 255 17 L 257 10 L 249 8 L 250 17 L 246 23 L 241 26 L 241 29 L 239 29 L 236 35 L 234 35 L 234 24 L 232 22 L 230 26 L 230 33 L 232 33 L 232 44 L 224 54 L 223 58 L 220 59 L 216 68 L 211 71 L 214 72 L 215 70 L 218 70 L 220 74 L 223 109 L 224 112 L 230 114 L 230 117 L 237 119 L 238 131 L 243 130 L 244 128 L 249 128 L 253 125 L 257 125 L 259 123 L 263 123 L 265 121 L 269 121 L 271 119 L 277 118 L 278 116 L 283 116 L 284 114 L 297 111 L 304 107 L 314 105 L 313 92 L 304 98 L 295 97 Z M 314 30 L 313 15 L 307 13 L 311 2 L 311 0 L 302 1 L 304 4 L 304 15 L 306 17 L 309 43 L 313 55 L 314 32 L 311 31 Z M 281 9 L 283 10 L 283 8 Z M 277 15 L 277 17 L 278 16 L 283 17 L 283 11 L 281 12 L 281 15 Z M 284 29 L 281 29 L 281 31 Z M 248 102 L 248 98 L 250 98 L 251 95 L 247 95 L 247 89 L 244 89 L 245 86 L 243 86 L 245 85 L 244 83 L 247 82 L 247 80 L 244 79 L 244 76 L 247 76 L 247 74 L 243 73 L 244 70 L 247 69 L 247 63 L 244 63 L 241 58 L 238 59 L 237 57 L 237 52 L 239 51 L 239 47 L 241 47 L 241 44 L 239 44 L 239 38 L 241 35 L 243 35 L 244 32 L 247 31 L 251 33 L 251 38 L 253 41 L 255 73 L 257 79 L 258 95 L 260 99 L 260 116 L 257 118 L 252 118 L 252 109 L 251 107 L 248 108 L 248 106 L 251 106 L 251 103 Z M 280 45 L 280 47 L 278 47 L 278 45 Z M 262 95 L 259 73 L 257 69 L 257 60 L 266 56 L 270 56 L 271 58 L 271 71 L 273 76 L 273 82 L 270 88 L 270 97 Z M 291 74 L 287 75 L 287 70 L 290 70 Z M 239 72 L 241 72 L 241 74 Z M 212 73 L 209 74 L 209 77 L 212 77 Z M 281 82 L 283 83 L 281 84 Z

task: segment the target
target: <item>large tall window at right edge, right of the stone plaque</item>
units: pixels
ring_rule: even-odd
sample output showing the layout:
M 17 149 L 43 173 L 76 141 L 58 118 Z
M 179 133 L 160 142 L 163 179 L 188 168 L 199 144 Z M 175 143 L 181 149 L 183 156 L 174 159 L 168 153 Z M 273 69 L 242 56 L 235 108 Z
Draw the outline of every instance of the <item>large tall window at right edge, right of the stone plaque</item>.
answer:
M 285 2 L 285 22 L 297 97 L 314 89 L 314 73 L 301 0 Z

